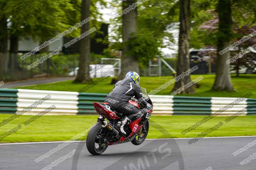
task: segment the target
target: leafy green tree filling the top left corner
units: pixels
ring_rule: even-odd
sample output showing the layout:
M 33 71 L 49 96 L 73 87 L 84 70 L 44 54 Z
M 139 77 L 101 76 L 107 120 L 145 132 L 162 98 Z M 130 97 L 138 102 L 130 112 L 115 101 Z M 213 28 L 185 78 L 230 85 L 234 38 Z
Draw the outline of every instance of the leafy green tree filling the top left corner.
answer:
M 63 32 L 71 25 L 67 15 L 74 11 L 69 0 L 56 1 L 31 1 L 31 0 L 3 0 L 3 15 L 8 19 L 8 33 L 10 34 L 10 58 L 9 68 L 20 68 L 18 49 L 19 38 L 30 36 L 39 40 L 40 45 Z M 22 9 L 22 10 L 20 10 Z M 23 18 L 23 19 L 20 19 Z M 5 36 L 8 36 L 5 33 Z M 73 32 L 73 34 L 76 31 Z M 48 52 L 49 46 L 40 50 L 40 53 Z M 31 56 L 32 57 L 32 56 Z M 4 60 L 6 62 L 6 59 Z

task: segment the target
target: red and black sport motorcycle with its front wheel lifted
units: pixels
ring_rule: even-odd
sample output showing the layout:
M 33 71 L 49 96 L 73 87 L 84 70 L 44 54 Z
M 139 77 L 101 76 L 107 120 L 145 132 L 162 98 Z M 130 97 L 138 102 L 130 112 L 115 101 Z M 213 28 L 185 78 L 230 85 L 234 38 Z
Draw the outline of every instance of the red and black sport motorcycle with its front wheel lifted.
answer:
M 94 124 L 88 132 L 86 139 L 86 147 L 92 155 L 100 155 L 106 151 L 110 145 L 123 144 L 126 142 L 132 142 L 134 145 L 139 145 L 144 142 L 148 135 L 148 120 L 153 112 L 153 103 L 148 97 L 145 88 L 141 88 L 141 92 L 143 98 L 151 105 L 151 107 L 146 109 L 146 112 L 143 113 L 140 118 L 124 126 L 126 135 L 120 131 L 118 126 L 116 126 L 117 122 L 123 119 L 122 113 L 116 112 L 108 103 L 93 103 L 93 106 L 100 117 L 98 118 L 97 123 Z M 129 103 L 140 109 L 138 100 L 132 98 L 129 100 Z

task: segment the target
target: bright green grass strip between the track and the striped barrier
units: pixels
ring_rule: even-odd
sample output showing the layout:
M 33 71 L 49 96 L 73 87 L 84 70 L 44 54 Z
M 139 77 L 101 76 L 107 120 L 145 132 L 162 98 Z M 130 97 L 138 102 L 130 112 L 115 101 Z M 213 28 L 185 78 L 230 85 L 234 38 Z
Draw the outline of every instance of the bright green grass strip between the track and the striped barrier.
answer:
M 11 115 L 9 114 L 1 114 L 0 121 L 3 121 L 10 116 Z M 17 125 L 21 125 L 21 129 L 4 138 L 1 143 L 67 141 L 73 136 L 90 128 L 96 122 L 98 116 L 43 116 L 25 126 L 23 122 L 31 117 L 32 116 L 22 115 L 0 127 L 0 135 L 2 135 L 17 127 Z M 223 122 L 223 126 L 218 130 L 211 132 L 206 137 L 256 135 L 256 116 L 240 116 L 228 123 L 225 123 L 224 121 L 227 117 L 215 117 L 197 127 L 195 130 L 192 130 L 185 135 L 181 134 L 183 130 L 203 118 L 204 116 L 151 116 L 150 130 L 147 138 L 196 137 L 204 130 L 212 128 L 219 122 Z M 86 137 L 82 137 L 79 140 L 85 139 Z

